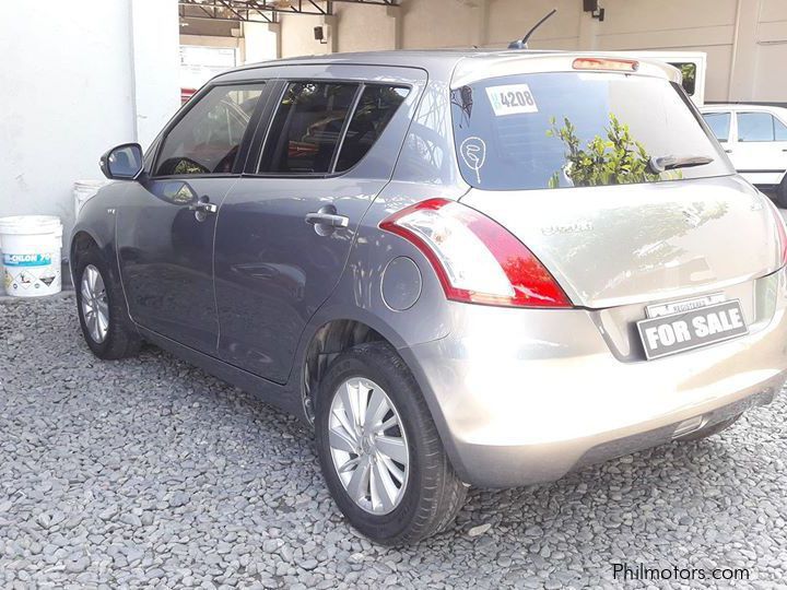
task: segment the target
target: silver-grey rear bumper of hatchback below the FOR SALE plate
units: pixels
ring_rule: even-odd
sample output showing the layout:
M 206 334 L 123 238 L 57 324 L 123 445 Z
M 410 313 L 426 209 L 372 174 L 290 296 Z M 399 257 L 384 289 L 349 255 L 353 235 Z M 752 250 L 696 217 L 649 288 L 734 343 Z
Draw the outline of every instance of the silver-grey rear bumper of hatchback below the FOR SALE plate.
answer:
M 450 335 L 400 352 L 463 481 L 550 482 L 768 403 L 787 379 L 777 274 L 749 335 L 657 361 L 613 354 L 594 311 L 463 304 Z

